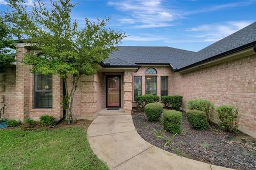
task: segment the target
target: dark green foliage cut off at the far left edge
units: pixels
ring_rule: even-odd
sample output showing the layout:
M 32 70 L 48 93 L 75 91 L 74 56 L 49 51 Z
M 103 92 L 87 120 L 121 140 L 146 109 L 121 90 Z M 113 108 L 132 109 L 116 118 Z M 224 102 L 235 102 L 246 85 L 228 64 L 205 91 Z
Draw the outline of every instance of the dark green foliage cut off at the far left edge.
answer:
M 14 46 L 15 43 L 12 41 L 10 30 L 0 17 L 0 74 L 3 74 L 6 68 L 15 61 L 13 57 Z

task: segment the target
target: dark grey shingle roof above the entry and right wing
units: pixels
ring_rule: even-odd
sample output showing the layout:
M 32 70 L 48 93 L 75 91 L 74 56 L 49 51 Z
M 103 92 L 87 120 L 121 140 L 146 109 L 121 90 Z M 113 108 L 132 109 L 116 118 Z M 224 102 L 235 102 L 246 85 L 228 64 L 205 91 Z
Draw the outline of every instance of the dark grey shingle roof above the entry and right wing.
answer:
M 173 69 L 181 69 L 253 42 L 256 44 L 256 22 L 198 52 L 172 47 L 119 46 L 104 63 L 110 66 L 168 63 Z

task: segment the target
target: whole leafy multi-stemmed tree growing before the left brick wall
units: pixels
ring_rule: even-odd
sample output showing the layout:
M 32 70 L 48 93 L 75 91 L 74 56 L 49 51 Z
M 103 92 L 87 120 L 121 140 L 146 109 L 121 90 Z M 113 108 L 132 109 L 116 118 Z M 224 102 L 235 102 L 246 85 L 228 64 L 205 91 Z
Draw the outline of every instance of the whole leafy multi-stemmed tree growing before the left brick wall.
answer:
M 68 123 L 73 123 L 72 106 L 79 78 L 96 74 L 99 62 L 108 58 L 125 34 L 106 28 L 109 18 L 96 22 L 85 18 L 85 26 L 79 28 L 70 17 L 76 5 L 70 0 L 51 0 L 50 9 L 39 0 L 30 10 L 23 0 L 8 3 L 12 12 L 5 17 L 12 23 L 13 33 L 19 38 L 27 37 L 31 47 L 41 54 L 29 53 L 23 63 L 33 66 L 31 72 L 60 75 L 66 87 L 62 106 Z

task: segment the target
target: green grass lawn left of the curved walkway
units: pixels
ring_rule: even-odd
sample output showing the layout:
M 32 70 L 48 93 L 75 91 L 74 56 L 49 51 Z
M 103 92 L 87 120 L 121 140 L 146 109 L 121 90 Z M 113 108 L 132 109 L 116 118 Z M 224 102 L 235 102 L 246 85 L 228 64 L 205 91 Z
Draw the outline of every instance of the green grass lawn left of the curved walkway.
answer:
M 0 130 L 0 169 L 108 169 L 92 152 L 86 128 Z

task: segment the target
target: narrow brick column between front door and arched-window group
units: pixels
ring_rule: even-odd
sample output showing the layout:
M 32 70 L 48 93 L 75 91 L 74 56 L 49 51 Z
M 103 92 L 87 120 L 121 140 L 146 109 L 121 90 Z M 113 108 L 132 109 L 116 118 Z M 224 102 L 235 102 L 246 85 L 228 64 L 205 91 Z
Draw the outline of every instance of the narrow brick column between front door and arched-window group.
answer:
M 132 111 L 132 72 L 124 71 L 124 112 Z

